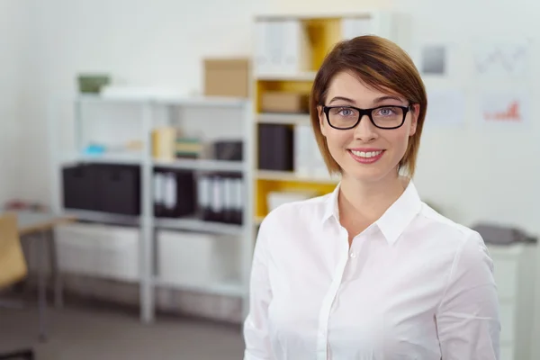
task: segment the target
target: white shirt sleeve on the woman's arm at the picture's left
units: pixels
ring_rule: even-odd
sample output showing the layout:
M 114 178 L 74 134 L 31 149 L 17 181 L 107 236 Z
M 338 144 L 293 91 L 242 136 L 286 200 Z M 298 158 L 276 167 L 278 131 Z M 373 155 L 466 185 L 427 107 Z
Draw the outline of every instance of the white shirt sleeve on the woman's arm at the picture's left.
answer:
M 244 323 L 244 360 L 269 360 L 274 357 L 268 338 L 268 306 L 272 300 L 272 289 L 268 278 L 267 231 L 266 221 L 263 221 L 258 231 L 251 268 L 249 313 Z

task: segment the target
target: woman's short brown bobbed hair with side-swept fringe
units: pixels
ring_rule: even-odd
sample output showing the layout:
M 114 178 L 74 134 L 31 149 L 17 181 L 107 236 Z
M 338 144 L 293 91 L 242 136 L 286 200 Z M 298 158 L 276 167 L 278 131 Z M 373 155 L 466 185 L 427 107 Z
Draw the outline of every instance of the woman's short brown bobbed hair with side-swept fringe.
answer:
M 324 105 L 332 78 L 342 71 L 354 73 L 366 85 L 379 91 L 390 90 L 405 97 L 410 103 L 419 103 L 417 129 L 399 164 L 400 169 L 406 169 L 412 177 L 428 107 L 426 88 L 409 55 L 391 40 L 374 35 L 339 42 L 324 59 L 311 88 L 311 125 L 329 172 L 339 173 L 341 168 L 330 155 L 326 138 L 320 131 L 318 106 Z

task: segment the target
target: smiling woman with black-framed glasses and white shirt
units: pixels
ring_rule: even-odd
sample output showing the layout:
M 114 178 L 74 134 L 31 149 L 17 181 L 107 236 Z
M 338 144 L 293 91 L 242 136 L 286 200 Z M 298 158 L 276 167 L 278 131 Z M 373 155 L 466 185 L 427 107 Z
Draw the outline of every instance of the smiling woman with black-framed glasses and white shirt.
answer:
M 499 359 L 483 240 L 421 202 L 410 180 L 427 103 L 391 41 L 363 36 L 329 53 L 311 124 L 341 181 L 261 224 L 245 359 Z

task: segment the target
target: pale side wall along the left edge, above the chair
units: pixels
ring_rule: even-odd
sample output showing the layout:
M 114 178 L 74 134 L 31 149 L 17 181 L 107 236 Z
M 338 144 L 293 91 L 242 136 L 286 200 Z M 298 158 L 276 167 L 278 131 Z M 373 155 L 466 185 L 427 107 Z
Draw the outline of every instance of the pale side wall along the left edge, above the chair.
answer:
M 23 106 L 22 80 L 28 2 L 0 1 L 0 207 L 19 196 L 20 108 Z

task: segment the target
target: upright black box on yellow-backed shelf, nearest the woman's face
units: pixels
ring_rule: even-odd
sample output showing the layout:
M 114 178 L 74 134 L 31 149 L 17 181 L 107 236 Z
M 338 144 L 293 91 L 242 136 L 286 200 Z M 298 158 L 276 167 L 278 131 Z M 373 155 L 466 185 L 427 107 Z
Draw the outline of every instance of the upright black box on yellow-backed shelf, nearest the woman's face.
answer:
M 293 129 L 288 125 L 259 124 L 258 168 L 293 171 Z

